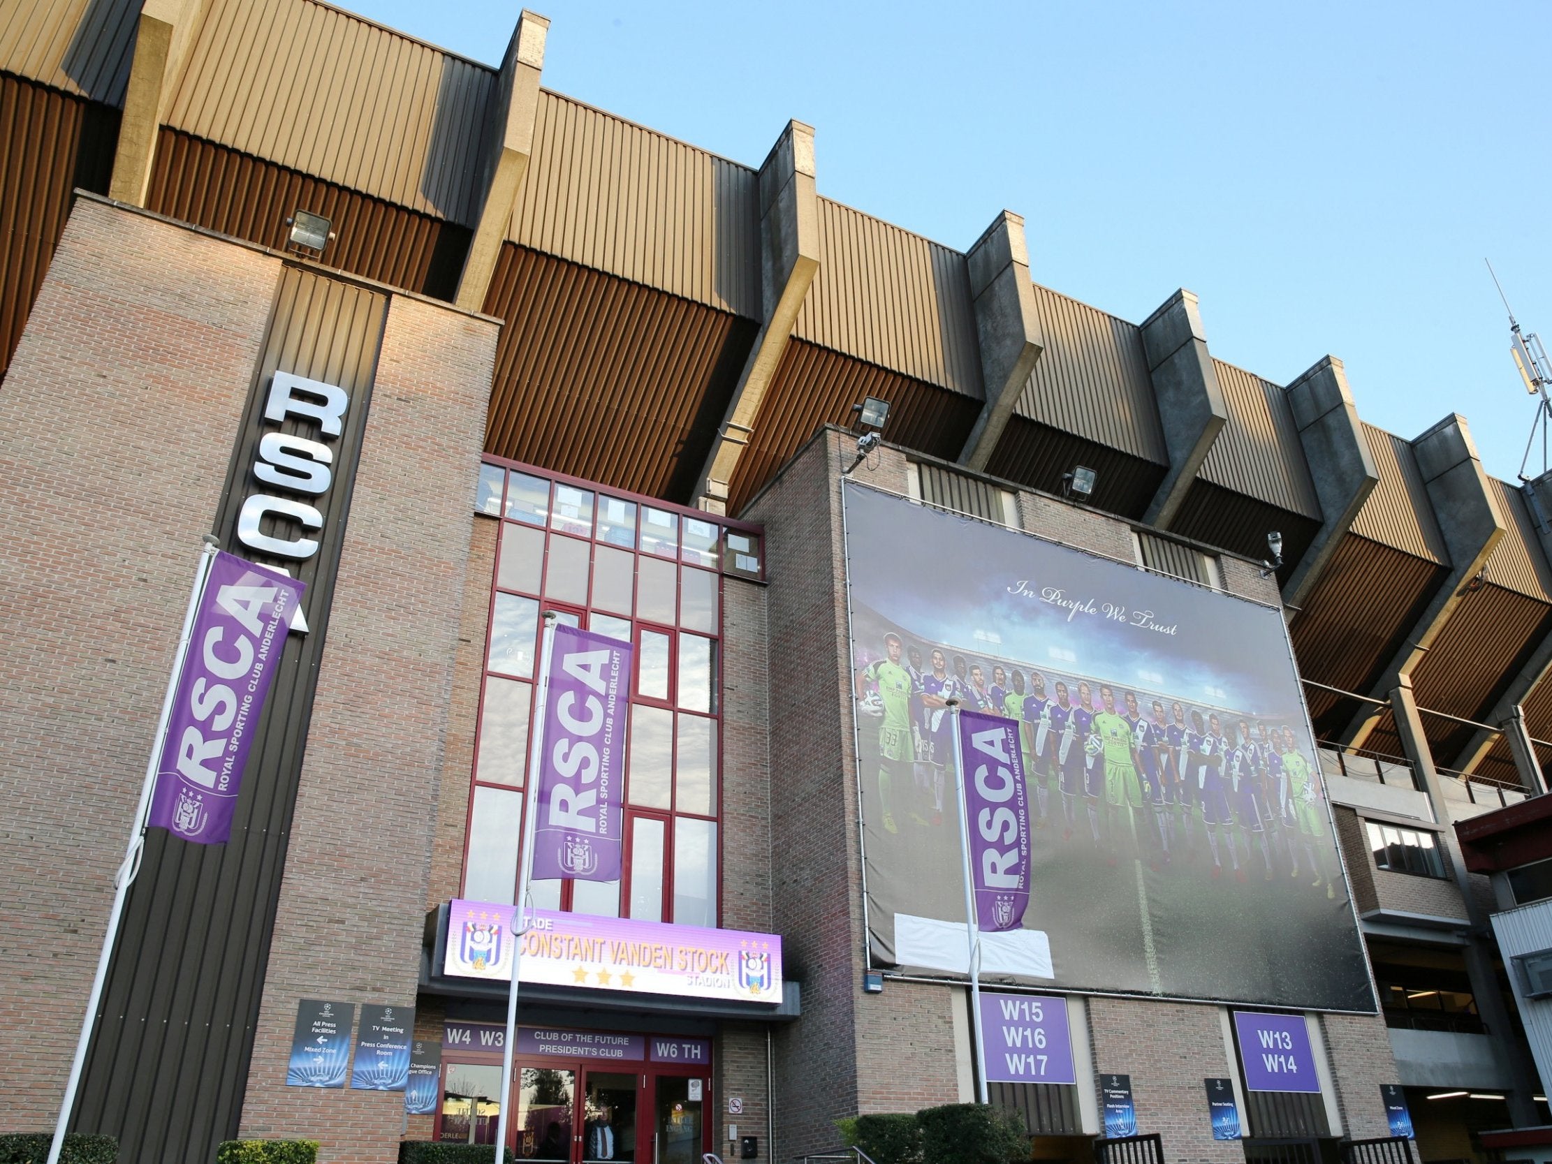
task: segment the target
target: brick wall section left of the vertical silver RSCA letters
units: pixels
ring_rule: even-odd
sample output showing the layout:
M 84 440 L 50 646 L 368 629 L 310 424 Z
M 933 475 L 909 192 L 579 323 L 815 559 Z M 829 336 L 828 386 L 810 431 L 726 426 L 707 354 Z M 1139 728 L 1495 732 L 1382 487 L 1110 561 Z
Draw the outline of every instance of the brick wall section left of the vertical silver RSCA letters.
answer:
M 0 388 L 0 1131 L 59 1111 L 279 267 L 82 199 Z

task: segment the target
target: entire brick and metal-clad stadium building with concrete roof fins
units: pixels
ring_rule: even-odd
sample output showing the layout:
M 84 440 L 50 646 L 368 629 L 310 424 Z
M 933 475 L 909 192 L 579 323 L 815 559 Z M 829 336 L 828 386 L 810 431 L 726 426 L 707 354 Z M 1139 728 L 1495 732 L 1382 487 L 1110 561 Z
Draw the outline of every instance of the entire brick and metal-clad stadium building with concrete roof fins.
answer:
M 982 1076 L 1043 1159 L 1541 1152 L 1541 937 L 1493 927 L 1544 846 L 1510 883 L 1454 829 L 1544 827 L 1538 483 L 1366 424 L 1333 357 L 1214 359 L 1190 292 L 1043 287 L 1017 214 L 961 251 L 830 202 L 801 123 L 745 166 L 553 93 L 548 31 L 489 68 L 315 0 L 0 14 L 0 1131 L 57 1113 L 211 534 L 306 629 L 231 840 L 147 837 L 73 1116 L 124 1161 L 391 1161 L 503 1103 L 525 1159 L 785 1161 Z M 625 872 L 535 886 L 508 1088 L 542 610 L 636 652 Z M 1029 725 L 995 1071 L 951 683 Z

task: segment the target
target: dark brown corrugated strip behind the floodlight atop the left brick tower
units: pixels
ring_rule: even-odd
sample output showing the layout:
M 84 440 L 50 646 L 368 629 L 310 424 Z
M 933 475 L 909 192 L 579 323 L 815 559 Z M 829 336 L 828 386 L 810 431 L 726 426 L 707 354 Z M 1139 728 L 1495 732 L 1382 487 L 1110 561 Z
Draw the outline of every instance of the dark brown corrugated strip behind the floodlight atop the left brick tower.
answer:
M 329 219 L 337 234 L 324 265 L 441 300 L 456 293 L 469 255 L 467 227 L 166 127 L 146 206 L 275 250 L 286 247 L 292 211 L 309 210 Z

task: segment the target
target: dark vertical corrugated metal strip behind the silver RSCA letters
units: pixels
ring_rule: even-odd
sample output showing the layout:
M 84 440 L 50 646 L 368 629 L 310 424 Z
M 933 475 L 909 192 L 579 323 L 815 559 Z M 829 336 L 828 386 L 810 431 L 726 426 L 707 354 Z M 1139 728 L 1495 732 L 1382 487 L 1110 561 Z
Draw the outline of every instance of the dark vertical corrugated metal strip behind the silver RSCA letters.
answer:
M 334 484 L 318 501 L 326 520 L 321 549 L 300 570 L 312 630 L 286 643 L 253 740 L 245 785 L 251 795 L 237 802 L 231 840 L 200 846 L 160 829 L 146 835 L 76 1107 L 76 1130 L 118 1136 L 126 1164 L 214 1159 L 216 1145 L 237 1135 L 386 306 L 385 295 L 298 268 L 284 272 L 276 292 L 225 500 L 213 515 L 225 548 L 237 548 L 234 526 L 264 431 L 270 376 L 282 369 L 337 383 L 351 394 L 351 410 L 335 445 Z

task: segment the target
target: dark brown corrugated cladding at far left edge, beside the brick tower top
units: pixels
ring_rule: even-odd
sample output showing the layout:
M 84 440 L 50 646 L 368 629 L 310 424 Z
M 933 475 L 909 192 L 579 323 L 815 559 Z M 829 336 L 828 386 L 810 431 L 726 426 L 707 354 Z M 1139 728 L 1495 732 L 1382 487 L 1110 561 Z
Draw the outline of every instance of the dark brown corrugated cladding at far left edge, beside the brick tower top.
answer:
M 118 112 L 0 74 L 0 379 L 65 230 L 70 191 L 107 192 Z

